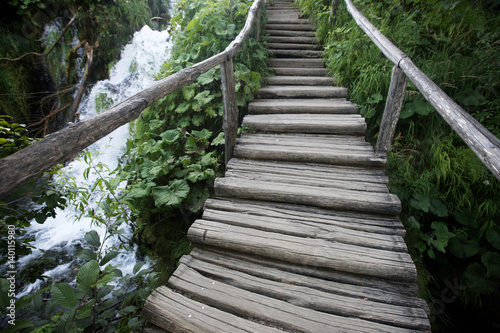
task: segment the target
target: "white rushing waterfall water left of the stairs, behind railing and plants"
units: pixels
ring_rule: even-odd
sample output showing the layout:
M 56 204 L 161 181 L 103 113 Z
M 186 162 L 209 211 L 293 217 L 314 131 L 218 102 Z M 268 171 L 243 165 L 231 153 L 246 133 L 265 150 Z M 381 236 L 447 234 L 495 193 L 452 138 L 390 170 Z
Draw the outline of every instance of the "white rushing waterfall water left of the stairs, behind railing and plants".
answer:
M 144 26 L 136 32 L 132 41 L 122 50 L 121 59 L 111 70 L 110 78 L 96 83 L 82 101 L 78 110 L 80 120 L 92 117 L 150 86 L 154 81 L 154 75 L 168 57 L 170 45 L 167 31 L 153 31 L 148 26 Z M 93 164 L 105 164 L 110 170 L 115 169 L 118 160 L 125 151 L 128 136 L 129 125 L 127 124 L 93 144 L 90 147 Z M 83 159 L 77 159 L 66 166 L 63 173 L 73 177 L 78 186 L 89 188 L 98 175 L 91 172 L 86 180 L 83 177 L 86 168 L 88 168 L 88 164 Z M 64 180 L 56 178 L 54 181 Z M 87 209 L 99 209 L 99 197 L 93 195 L 91 198 Z M 33 245 L 36 250 L 33 250 L 31 255 L 19 258 L 18 271 L 22 271 L 30 262 L 36 262 L 43 259 L 44 256 L 50 256 L 57 257 L 60 265 L 44 273 L 49 281 L 71 281 L 74 279 L 75 269 L 78 266 L 74 256 L 81 248 L 81 244 L 85 242 L 85 233 L 96 230 L 102 240 L 106 232 L 104 227 L 96 226 L 89 218 L 76 220 L 75 214 L 75 207 L 67 207 L 65 210 L 58 211 L 55 218 L 49 218 L 43 224 L 33 222 L 29 227 L 28 234 L 35 236 L 36 240 Z M 125 233 L 127 236 L 131 230 L 125 230 Z M 105 246 L 116 246 L 119 242 L 118 238 L 111 238 Z M 124 274 L 130 273 L 135 263 L 136 254 L 133 249 L 120 254 L 111 262 L 113 265 L 119 265 Z M 18 296 L 36 290 L 43 283 L 43 281 L 38 280 L 34 284 L 25 286 Z

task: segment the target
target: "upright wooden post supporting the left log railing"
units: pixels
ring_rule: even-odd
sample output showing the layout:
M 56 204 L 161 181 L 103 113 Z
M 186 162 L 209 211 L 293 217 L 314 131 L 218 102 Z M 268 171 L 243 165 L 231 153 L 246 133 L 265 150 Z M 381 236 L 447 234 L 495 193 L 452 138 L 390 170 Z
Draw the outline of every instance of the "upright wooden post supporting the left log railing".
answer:
M 224 104 L 223 129 L 226 141 L 226 165 L 233 157 L 233 149 L 238 134 L 238 107 L 236 106 L 236 91 L 234 86 L 233 59 L 220 65 L 222 80 L 222 98 Z

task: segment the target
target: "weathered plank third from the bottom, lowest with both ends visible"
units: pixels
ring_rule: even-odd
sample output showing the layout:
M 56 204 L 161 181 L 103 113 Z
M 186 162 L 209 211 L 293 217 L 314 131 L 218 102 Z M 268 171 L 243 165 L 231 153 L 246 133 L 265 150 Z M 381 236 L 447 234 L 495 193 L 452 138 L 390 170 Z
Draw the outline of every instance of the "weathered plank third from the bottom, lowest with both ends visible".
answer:
M 204 276 L 296 306 L 391 326 L 416 330 L 430 329 L 427 314 L 421 308 L 384 304 L 366 298 L 328 293 L 314 287 L 272 281 L 188 256 L 183 257 L 181 263 Z

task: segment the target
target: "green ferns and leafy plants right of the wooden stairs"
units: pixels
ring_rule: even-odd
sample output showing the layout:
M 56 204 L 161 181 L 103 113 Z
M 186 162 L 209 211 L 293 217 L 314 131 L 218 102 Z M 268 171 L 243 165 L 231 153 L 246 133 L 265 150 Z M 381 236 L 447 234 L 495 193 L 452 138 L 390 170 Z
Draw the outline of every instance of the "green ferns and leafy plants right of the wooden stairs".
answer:
M 327 66 L 349 88 L 374 142 L 393 64 L 356 25 L 343 1 L 333 27 L 331 1 L 297 3 L 313 18 Z M 500 19 L 494 1 L 364 0 L 355 5 L 500 136 Z M 388 176 L 391 191 L 403 203 L 401 219 L 422 296 L 431 307 L 433 331 L 491 329 L 500 308 L 500 183 L 411 83 Z

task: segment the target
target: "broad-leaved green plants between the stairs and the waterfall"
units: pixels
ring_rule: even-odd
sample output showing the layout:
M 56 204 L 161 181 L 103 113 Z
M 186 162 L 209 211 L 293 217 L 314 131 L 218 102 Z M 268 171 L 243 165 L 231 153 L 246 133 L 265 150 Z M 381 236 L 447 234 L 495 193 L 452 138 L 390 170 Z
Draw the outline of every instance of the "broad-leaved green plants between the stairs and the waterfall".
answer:
M 172 18 L 171 59 L 158 79 L 223 51 L 243 28 L 251 4 L 243 0 L 179 2 Z M 261 85 L 266 64 L 267 51 L 253 38 L 234 59 L 241 115 L 252 92 Z M 100 108 L 107 103 L 106 96 L 99 96 Z M 1 156 L 30 143 L 24 136 L 24 126 L 7 121 L 7 117 L 0 119 Z M 116 170 L 96 163 L 94 153 L 87 150 L 79 157 L 87 165 L 84 185 L 77 184 L 62 169 L 52 171 L 59 180 L 54 184 L 38 180 L 41 183 L 30 183 L 2 198 L 2 241 L 7 242 L 9 230 L 15 229 L 16 256 L 32 251 L 32 239 L 26 237 L 30 222 L 35 219 L 43 223 L 58 208 L 73 206 L 75 219 L 90 219 L 105 229 L 101 237 L 95 231 L 85 235 L 86 242 L 74 263 L 79 267 L 74 276 L 67 281 L 42 283 L 41 290 L 17 300 L 16 327 L 7 326 L 7 330 L 131 332 L 143 327 L 143 302 L 173 272 L 177 259 L 189 251 L 186 231 L 199 216 L 204 201 L 213 195 L 214 178 L 223 171 L 220 68 L 166 96 L 131 126 L 133 138 L 127 142 Z M 29 201 L 38 208 L 31 208 Z M 98 208 L 89 209 L 91 202 Z M 126 226 L 132 228 L 132 235 L 124 231 Z M 104 243 L 117 235 L 122 243 L 105 249 Z M 136 245 L 137 257 L 153 259 L 147 261 L 152 262 L 151 267 L 143 269 L 140 263 L 129 275 L 110 264 L 123 250 Z M 10 260 L 8 253 L 2 254 L 3 263 Z M 17 274 L 16 289 L 43 278 L 47 269 L 58 265 L 51 258 L 33 263 Z M 76 285 L 71 284 L 72 279 L 76 279 Z M 6 315 L 10 282 L 0 282 L 0 308 Z

